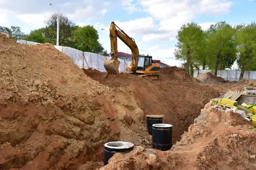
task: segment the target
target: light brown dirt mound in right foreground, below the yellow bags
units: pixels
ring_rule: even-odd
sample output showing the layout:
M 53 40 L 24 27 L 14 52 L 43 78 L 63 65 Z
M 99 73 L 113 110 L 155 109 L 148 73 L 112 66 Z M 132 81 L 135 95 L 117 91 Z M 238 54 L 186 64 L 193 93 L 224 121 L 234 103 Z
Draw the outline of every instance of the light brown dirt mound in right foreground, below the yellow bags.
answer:
M 255 170 L 256 130 L 249 126 L 238 113 L 219 112 L 208 104 L 171 150 L 146 149 L 156 155 L 141 148 L 118 153 L 104 170 Z

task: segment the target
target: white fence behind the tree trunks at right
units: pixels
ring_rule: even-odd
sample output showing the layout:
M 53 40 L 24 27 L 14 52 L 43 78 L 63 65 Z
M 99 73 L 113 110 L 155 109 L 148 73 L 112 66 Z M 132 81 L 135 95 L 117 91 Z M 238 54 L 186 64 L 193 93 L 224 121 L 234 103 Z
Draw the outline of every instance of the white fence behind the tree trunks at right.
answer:
M 205 72 L 213 73 L 214 70 L 194 70 L 194 77 L 204 74 Z M 238 81 L 241 70 L 218 70 L 217 76 L 222 77 L 229 81 Z M 243 74 L 244 79 L 256 79 L 256 71 L 245 71 Z

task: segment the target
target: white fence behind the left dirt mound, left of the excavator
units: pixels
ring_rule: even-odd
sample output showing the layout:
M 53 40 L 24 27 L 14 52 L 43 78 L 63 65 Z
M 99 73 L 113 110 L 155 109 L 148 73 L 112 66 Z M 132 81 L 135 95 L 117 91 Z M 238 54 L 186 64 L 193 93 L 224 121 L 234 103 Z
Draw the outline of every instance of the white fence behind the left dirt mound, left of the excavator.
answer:
M 40 44 L 38 42 L 31 42 L 31 41 L 26 41 L 26 40 L 17 40 L 18 43 L 22 44 L 31 44 L 31 45 L 36 45 Z M 56 49 L 59 51 L 63 52 L 64 54 L 68 55 L 69 57 L 72 58 L 74 64 L 78 65 L 79 68 L 92 68 L 99 70 L 101 72 L 105 72 L 105 67 L 103 65 L 104 60 L 110 59 L 111 57 L 106 57 L 103 55 L 98 55 L 92 52 L 83 52 L 71 47 L 64 47 L 64 46 L 57 46 L 54 45 Z M 120 66 L 119 66 L 119 72 L 125 72 L 125 67 L 130 64 L 129 61 L 127 60 L 121 60 L 118 58 L 120 61 Z

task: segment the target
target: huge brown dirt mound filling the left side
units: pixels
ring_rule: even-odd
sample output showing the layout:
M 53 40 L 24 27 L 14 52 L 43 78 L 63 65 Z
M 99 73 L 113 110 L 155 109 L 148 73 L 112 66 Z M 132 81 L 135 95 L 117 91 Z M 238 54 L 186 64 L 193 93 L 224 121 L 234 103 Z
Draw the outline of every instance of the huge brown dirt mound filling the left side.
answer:
M 112 94 L 53 45 L 23 45 L 0 35 L 0 169 L 89 166 L 103 161 L 103 144 L 123 140 L 132 123 L 143 139 L 135 144 L 147 146 L 137 102 L 115 92 L 121 105 Z M 132 138 L 133 128 L 126 129 L 125 138 Z

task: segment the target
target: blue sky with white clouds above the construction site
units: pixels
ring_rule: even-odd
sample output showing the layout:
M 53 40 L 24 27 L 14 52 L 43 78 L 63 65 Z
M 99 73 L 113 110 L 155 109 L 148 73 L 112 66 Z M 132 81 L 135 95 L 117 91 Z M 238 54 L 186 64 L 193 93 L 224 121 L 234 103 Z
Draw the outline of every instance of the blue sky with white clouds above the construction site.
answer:
M 0 0 L 0 26 L 19 26 L 29 33 L 44 27 L 59 10 L 79 26 L 94 25 L 110 52 L 109 26 L 114 21 L 135 39 L 140 54 L 181 66 L 173 52 L 182 24 L 193 21 L 204 30 L 221 20 L 247 24 L 255 20 L 255 7 L 256 0 Z M 131 54 L 119 39 L 118 51 Z

